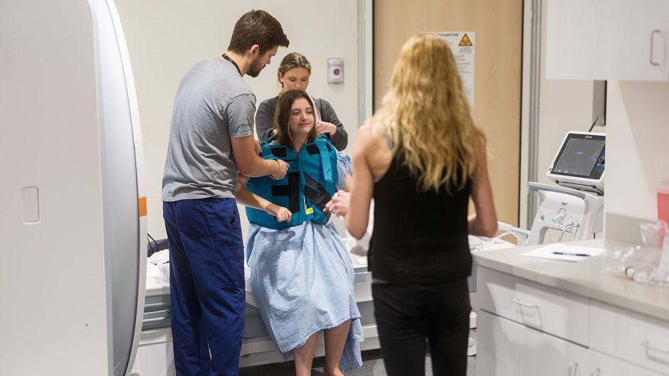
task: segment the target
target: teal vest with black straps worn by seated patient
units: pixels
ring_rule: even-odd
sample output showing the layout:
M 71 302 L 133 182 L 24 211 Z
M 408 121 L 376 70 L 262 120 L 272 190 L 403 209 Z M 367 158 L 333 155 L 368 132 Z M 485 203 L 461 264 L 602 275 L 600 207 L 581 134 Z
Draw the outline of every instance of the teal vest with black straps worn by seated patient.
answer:
M 337 190 L 337 152 L 334 146 L 321 135 L 313 142 L 302 146 L 295 153 L 288 146 L 270 145 L 274 136 L 265 140 L 262 146 L 263 159 L 282 159 L 288 163 L 288 173 L 282 180 L 269 176 L 249 178 L 246 189 L 270 201 L 288 208 L 293 213 L 289 222 L 279 222 L 264 210 L 246 208 L 248 222 L 263 227 L 282 230 L 312 220 L 323 225 L 330 219 L 330 213 L 323 213 L 325 204 Z

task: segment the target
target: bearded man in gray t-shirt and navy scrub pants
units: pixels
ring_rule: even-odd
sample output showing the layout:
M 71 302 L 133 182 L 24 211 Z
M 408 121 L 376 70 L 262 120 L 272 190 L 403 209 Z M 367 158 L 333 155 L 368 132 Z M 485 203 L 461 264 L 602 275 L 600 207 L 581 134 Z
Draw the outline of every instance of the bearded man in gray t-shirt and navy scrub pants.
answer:
M 288 170 L 255 151 L 256 97 L 242 77 L 256 77 L 279 46 L 288 38 L 275 18 L 244 14 L 226 53 L 194 65 L 174 99 L 162 200 L 177 376 L 239 372 L 246 294 L 237 174 Z

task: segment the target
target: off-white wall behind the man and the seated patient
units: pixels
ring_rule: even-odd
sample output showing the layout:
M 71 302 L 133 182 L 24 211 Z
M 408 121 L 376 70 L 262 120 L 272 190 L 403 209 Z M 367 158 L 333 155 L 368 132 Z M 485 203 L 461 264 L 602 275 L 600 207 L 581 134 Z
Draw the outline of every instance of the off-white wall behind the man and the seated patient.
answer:
M 359 122 L 358 1 L 117 0 L 116 4 L 137 86 L 153 237 L 166 236 L 160 193 L 179 80 L 197 61 L 225 52 L 234 23 L 251 9 L 272 14 L 290 40 L 289 48 L 280 48 L 260 76 L 246 77 L 258 103 L 276 95 L 276 70 L 283 56 L 304 53 L 312 63 L 308 91 L 332 104 L 349 133 L 350 149 Z M 344 85 L 327 84 L 327 58 L 344 58 Z

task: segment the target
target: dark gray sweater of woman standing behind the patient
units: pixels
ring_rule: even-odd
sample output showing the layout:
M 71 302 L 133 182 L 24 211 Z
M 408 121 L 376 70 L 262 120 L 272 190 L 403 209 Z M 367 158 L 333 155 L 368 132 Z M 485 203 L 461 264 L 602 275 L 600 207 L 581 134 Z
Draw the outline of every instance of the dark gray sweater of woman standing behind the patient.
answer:
M 258 135 L 260 141 L 264 141 L 273 135 L 274 112 L 278 102 L 279 97 L 276 96 L 264 100 L 258 106 L 258 112 L 256 112 L 256 135 Z M 346 133 L 344 124 L 339 121 L 337 114 L 334 113 L 334 109 L 332 109 L 332 106 L 327 100 L 315 99 L 314 102 L 321 120 L 323 122 L 332 123 L 337 127 L 337 133 L 332 135 L 330 142 L 332 142 L 332 145 L 334 145 L 337 150 L 344 150 L 349 143 L 349 134 Z

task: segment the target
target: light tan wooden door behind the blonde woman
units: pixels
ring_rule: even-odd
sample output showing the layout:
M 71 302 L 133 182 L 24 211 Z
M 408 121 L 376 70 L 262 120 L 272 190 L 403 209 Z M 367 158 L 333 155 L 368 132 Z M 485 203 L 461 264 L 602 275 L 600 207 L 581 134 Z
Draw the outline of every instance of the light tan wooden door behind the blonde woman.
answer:
M 497 217 L 518 224 L 522 0 L 374 1 L 374 104 L 404 42 L 416 33 L 475 32 L 474 122 L 488 137 Z

